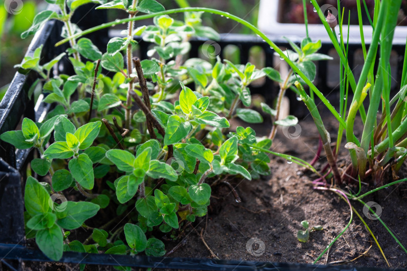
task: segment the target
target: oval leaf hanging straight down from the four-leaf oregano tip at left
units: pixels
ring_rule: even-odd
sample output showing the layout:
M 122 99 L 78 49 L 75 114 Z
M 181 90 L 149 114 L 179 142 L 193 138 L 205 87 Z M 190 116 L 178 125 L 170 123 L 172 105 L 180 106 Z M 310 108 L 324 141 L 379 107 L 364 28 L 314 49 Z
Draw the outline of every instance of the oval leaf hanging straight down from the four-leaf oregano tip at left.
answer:
M 73 178 L 84 189 L 91 190 L 94 185 L 93 163 L 86 154 L 80 154 L 68 163 L 69 171 Z

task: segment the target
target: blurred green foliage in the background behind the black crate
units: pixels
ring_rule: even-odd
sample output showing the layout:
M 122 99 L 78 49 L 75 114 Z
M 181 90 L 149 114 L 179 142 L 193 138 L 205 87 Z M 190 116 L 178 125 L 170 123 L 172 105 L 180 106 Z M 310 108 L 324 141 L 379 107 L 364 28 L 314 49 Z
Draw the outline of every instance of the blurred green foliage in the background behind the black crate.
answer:
M 188 5 L 219 9 L 245 18 L 256 25 L 260 0 L 159 0 L 159 2 L 166 9 Z M 31 26 L 34 16 L 45 10 L 47 5 L 43 0 L 0 0 L 0 100 L 17 71 L 13 66 L 22 61 L 32 39 L 22 40 L 20 35 Z M 11 14 L 13 12 L 7 10 L 10 7 L 17 9 L 14 15 Z M 124 14 L 120 12 L 112 13 L 109 14 L 109 20 L 124 18 L 123 16 Z M 182 19 L 182 15 L 180 16 L 179 19 Z M 247 29 L 242 28 L 237 23 L 219 16 L 205 14 L 203 20 L 205 25 L 214 28 L 219 33 L 249 34 Z M 144 24 L 146 23 L 144 22 Z

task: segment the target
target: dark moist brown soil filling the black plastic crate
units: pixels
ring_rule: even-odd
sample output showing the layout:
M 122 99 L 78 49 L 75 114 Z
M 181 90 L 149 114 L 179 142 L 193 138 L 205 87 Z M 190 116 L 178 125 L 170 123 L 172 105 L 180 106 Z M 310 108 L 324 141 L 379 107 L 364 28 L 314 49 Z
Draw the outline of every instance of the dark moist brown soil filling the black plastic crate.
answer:
M 337 122 L 326 112 L 323 114 L 325 126 L 331 131 L 331 141 L 336 142 Z M 264 123 L 271 123 L 265 118 Z M 270 126 L 252 124 L 257 136 L 268 135 Z M 301 134 L 292 140 L 279 130 L 273 142 L 272 150 L 297 156 L 308 162 L 317 152 L 318 133 L 310 116 L 299 122 Z M 243 123 L 233 122 L 232 129 Z M 360 138 L 361 121 L 355 122 L 355 135 Z M 293 132 L 293 130 L 289 130 Z M 349 164 L 347 150 L 341 146 L 338 165 Z M 208 217 L 197 219 L 182 232 L 179 238 L 167 241 L 167 251 L 180 244 L 169 257 L 211 258 L 211 252 L 199 237 L 204 230 L 204 239 L 213 253 L 220 259 L 253 260 L 271 262 L 312 263 L 327 245 L 343 230 L 350 219 L 350 209 L 346 202 L 329 191 L 316 191 L 312 181 L 315 174 L 305 171 L 296 164 L 270 156 L 271 175 L 259 180 L 228 180 L 236 188 L 242 202 L 237 203 L 233 193 L 226 185 L 212 187 L 213 196 L 209 206 Z M 320 159 L 315 167 L 321 169 L 326 159 Z M 390 174 L 387 174 L 391 176 Z M 399 172 L 400 178 L 407 177 L 405 167 Z M 391 180 L 389 180 L 391 181 Z M 208 180 L 211 183 L 211 180 Z M 346 190 L 346 187 L 343 186 Z M 350 187 L 357 191 L 356 187 Z M 348 187 L 349 189 L 349 187 Z M 370 187 L 369 189 L 372 189 Z M 362 193 L 368 191 L 362 186 Z M 365 202 L 374 201 L 382 207 L 380 218 L 393 231 L 403 245 L 407 245 L 407 184 L 400 184 L 382 189 L 364 198 Z M 387 260 L 394 268 L 407 268 L 407 254 L 395 242 L 378 220 L 370 220 L 363 214 L 362 204 L 353 201 L 353 206 L 367 222 L 378 239 Z M 301 243 L 296 234 L 302 227 L 300 222 L 308 220 L 310 228 L 322 225 L 324 230 L 310 234 L 310 240 Z M 182 228 L 182 227 L 181 227 Z M 87 236 L 85 232 L 76 232 L 77 237 Z M 83 237 L 82 236 L 82 237 Z M 123 236 L 122 236 L 123 237 Z M 258 238 L 251 249 L 257 251 L 264 243 L 264 253 L 255 256 L 249 253 L 247 243 L 251 238 Z M 169 240 L 169 236 L 162 236 Z M 30 242 L 29 242 L 30 243 Z M 35 246 L 34 243 L 31 243 Z M 250 243 L 249 243 L 250 244 Z M 260 246 L 259 246 L 260 245 Z M 261 249 L 260 249 L 261 250 Z M 255 253 L 253 253 L 255 254 Z M 360 219 L 354 214 L 353 222 L 325 254 L 319 264 L 350 264 L 358 266 L 376 266 L 388 268 L 377 245 Z M 23 262 L 26 270 L 78 270 L 76 264 Z M 8 270 L 3 265 L 4 270 Z M 1 264 L 0 264 L 1 270 Z M 112 266 L 86 265 L 85 270 L 114 270 Z

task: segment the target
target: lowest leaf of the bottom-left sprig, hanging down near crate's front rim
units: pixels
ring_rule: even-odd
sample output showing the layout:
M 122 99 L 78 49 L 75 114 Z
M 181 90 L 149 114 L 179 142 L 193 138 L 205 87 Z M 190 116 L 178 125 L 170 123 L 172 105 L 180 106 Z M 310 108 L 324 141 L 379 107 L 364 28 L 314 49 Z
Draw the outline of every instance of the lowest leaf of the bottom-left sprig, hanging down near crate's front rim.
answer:
M 58 261 L 63 253 L 63 234 L 58 225 L 42 229 L 35 234 L 35 242 L 41 251 L 50 259 Z

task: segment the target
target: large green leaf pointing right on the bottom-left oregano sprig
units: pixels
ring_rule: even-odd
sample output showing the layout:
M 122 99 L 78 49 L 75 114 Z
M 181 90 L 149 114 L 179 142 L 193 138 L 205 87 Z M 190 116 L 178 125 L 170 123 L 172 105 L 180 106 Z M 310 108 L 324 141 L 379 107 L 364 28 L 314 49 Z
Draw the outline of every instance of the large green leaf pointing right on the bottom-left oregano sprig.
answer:
M 59 218 L 60 216 L 57 215 L 59 218 L 57 224 L 69 230 L 79 228 L 85 220 L 94 216 L 99 209 L 99 205 L 91 202 L 67 201 L 66 209 L 59 213 L 62 218 Z

